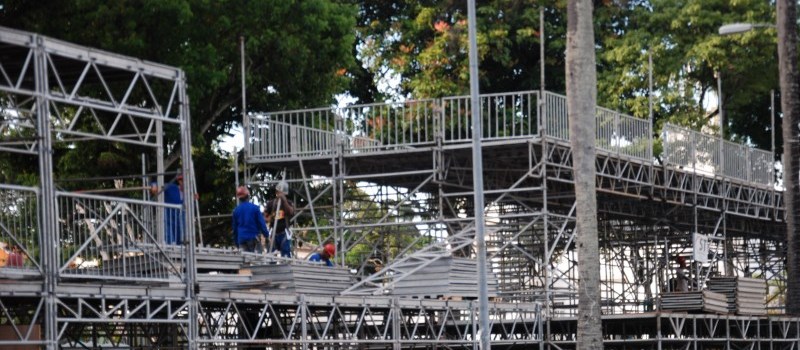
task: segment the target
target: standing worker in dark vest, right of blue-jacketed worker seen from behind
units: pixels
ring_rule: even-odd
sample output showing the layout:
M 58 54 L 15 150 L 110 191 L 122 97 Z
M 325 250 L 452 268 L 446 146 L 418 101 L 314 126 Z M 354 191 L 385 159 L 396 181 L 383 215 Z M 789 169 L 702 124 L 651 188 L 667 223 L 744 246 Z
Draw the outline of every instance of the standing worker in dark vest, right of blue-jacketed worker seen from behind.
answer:
M 286 195 L 289 193 L 289 184 L 281 181 L 275 186 L 275 198 L 267 202 L 264 216 L 267 224 L 272 229 L 272 251 L 280 251 L 281 256 L 292 257 L 292 231 L 289 219 L 294 216 L 294 204 Z

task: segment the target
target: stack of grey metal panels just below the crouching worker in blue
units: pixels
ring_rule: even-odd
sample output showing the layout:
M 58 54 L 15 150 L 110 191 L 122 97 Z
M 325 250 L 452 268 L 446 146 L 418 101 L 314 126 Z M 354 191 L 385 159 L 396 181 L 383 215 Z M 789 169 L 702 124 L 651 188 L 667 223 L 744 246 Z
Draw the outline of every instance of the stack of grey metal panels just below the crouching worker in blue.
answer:
M 250 267 L 252 281 L 268 281 L 269 289 L 286 293 L 339 295 L 355 282 L 350 270 L 318 264 L 263 264 Z

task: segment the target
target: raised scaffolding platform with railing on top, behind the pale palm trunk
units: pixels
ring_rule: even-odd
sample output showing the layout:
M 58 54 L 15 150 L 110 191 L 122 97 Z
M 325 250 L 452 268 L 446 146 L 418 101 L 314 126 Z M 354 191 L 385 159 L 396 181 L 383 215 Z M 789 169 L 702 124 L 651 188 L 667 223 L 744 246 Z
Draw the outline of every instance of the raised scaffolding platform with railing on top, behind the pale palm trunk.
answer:
M 566 99 L 526 91 L 482 95 L 480 105 L 487 245 L 502 298 L 574 315 Z M 254 114 L 248 182 L 270 185 L 269 174 L 286 170 L 304 203 L 295 217 L 301 237 L 337 242 L 350 254 L 342 262 L 387 263 L 345 294 L 391 294 L 410 264 L 418 271 L 443 256 L 474 257 L 470 116 L 467 97 Z M 603 108 L 596 120 L 605 313 L 654 310 L 674 258 L 692 256 L 694 233 L 714 242 L 712 261 L 693 265 L 699 283 L 745 274 L 782 282 L 772 153 L 669 124 L 653 138 L 648 120 Z M 393 254 L 387 237 L 404 235 L 416 239 Z

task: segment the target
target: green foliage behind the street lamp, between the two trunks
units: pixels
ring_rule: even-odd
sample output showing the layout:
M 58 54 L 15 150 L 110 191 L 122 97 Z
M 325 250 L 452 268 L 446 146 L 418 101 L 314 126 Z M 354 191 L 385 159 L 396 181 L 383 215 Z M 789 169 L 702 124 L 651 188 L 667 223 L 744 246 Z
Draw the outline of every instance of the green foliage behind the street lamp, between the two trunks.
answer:
M 715 72 L 721 71 L 726 136 L 769 148 L 769 90 L 777 87 L 775 33 L 767 29 L 723 37 L 717 31 L 733 22 L 774 23 L 774 11 L 767 2 L 749 0 L 601 6 L 595 18 L 601 28 L 598 103 L 647 118 L 650 53 L 656 131 L 665 121 L 699 129 L 718 114 L 702 103 L 716 95 Z

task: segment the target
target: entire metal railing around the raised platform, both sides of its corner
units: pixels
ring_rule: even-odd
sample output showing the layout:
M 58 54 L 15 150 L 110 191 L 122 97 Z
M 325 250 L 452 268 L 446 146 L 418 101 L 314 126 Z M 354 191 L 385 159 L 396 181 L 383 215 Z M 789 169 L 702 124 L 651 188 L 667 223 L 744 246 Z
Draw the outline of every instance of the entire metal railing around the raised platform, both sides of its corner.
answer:
M 544 135 L 569 141 L 567 99 L 537 91 L 484 94 L 480 97 L 482 140 Z M 541 111 L 537 108 L 542 100 Z M 472 140 L 468 96 L 373 103 L 345 108 L 318 108 L 250 116 L 250 159 L 317 157 Z M 540 115 L 541 113 L 541 115 Z M 653 127 L 649 120 L 596 108 L 597 150 L 652 164 Z M 684 135 L 685 134 L 685 135 Z M 723 141 L 672 125 L 664 127 L 667 164 L 711 176 L 726 176 L 759 185 L 774 183 L 770 152 Z

